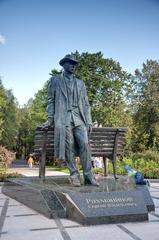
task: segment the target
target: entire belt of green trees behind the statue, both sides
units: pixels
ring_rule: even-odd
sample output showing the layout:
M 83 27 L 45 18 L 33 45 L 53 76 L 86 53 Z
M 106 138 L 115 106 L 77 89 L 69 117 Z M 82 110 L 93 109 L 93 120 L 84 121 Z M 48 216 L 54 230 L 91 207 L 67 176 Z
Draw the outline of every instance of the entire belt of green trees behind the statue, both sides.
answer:
M 93 123 L 127 127 L 125 152 L 159 163 L 159 62 L 147 60 L 132 76 L 101 52 L 73 54 L 80 62 L 76 76 L 85 81 Z M 50 75 L 60 73 L 53 69 Z M 0 144 L 16 151 L 17 157 L 31 153 L 35 129 L 47 117 L 46 107 L 47 82 L 34 99 L 20 108 L 12 91 L 5 89 L 0 80 Z

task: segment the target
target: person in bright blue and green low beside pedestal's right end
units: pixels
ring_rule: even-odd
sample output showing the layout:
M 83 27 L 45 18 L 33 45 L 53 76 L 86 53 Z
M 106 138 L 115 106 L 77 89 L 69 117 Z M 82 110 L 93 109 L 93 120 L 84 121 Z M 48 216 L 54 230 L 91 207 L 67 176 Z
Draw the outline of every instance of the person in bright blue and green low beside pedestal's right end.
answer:
M 149 181 L 146 181 L 143 177 L 143 175 L 139 172 L 139 171 L 136 171 L 134 169 L 132 169 L 130 166 L 126 165 L 125 166 L 125 170 L 128 174 L 128 179 L 127 179 L 127 183 L 130 182 L 130 178 L 133 177 L 134 180 L 135 180 L 135 183 L 137 185 L 150 185 L 149 184 Z

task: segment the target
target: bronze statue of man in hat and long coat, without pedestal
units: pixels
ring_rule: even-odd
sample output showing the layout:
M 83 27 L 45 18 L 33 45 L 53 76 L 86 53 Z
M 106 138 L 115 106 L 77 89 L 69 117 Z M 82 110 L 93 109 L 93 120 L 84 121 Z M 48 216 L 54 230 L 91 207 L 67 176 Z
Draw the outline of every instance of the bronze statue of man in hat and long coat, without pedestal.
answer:
M 98 186 L 91 166 L 88 136 L 92 128 L 90 106 L 85 84 L 74 76 L 78 61 L 72 55 L 60 60 L 61 75 L 48 84 L 48 119 L 43 128 L 54 125 L 55 158 L 66 160 L 70 182 L 80 186 L 80 175 L 75 158 L 80 157 L 85 185 Z

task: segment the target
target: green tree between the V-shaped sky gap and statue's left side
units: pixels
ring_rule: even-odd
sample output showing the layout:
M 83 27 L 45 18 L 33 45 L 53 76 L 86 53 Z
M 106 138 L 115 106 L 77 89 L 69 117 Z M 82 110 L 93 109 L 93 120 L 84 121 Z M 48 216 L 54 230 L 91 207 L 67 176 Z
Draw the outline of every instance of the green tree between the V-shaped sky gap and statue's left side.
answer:
M 34 135 L 38 125 L 46 121 L 47 107 L 47 82 L 44 87 L 35 94 L 35 99 L 20 109 L 20 125 L 17 137 L 17 157 L 25 157 L 34 151 Z

